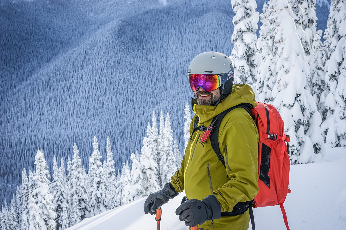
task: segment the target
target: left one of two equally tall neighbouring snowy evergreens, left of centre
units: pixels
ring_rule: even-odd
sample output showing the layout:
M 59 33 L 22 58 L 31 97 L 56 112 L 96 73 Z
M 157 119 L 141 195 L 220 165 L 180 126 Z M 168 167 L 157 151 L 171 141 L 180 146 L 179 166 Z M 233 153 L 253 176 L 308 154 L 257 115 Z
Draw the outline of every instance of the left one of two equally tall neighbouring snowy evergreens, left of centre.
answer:
M 90 207 L 92 214 L 97 215 L 107 210 L 107 198 L 105 193 L 104 172 L 101 163 L 99 143 L 96 137 L 92 143 L 94 151 L 89 158 L 89 179 L 90 179 Z

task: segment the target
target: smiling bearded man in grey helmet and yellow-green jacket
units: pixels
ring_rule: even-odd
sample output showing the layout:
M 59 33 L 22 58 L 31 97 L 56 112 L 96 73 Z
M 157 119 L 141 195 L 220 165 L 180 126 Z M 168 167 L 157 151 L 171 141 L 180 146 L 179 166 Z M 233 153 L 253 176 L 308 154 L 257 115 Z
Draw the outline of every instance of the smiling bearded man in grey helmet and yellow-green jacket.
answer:
M 248 206 L 258 192 L 256 125 L 243 108 L 228 112 L 219 126 L 219 147 L 224 164 L 212 149 L 210 140 L 201 143 L 203 131 L 213 117 L 240 103 L 256 106 L 251 87 L 233 85 L 233 64 L 218 52 L 204 52 L 190 63 L 188 75 L 195 116 L 190 125 L 190 140 L 181 167 L 160 191 L 149 195 L 145 213 L 156 210 L 185 190 L 186 201 L 176 209 L 186 226 L 203 230 L 246 230 L 249 226 Z M 194 131 L 194 132 L 193 132 Z

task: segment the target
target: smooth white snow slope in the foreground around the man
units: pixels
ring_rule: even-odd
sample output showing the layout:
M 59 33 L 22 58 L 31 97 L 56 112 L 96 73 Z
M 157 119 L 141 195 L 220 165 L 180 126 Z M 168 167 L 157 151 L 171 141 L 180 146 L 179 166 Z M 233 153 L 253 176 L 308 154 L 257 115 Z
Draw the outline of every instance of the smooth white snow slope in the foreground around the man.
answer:
M 284 203 L 290 229 L 346 229 L 346 148 L 327 149 L 319 163 L 292 165 Z M 161 229 L 187 230 L 175 215 L 184 194 L 162 207 Z M 146 198 L 84 219 L 69 230 L 153 230 L 155 216 L 144 214 Z M 279 206 L 254 209 L 256 230 L 286 229 Z M 251 226 L 249 227 L 251 229 Z

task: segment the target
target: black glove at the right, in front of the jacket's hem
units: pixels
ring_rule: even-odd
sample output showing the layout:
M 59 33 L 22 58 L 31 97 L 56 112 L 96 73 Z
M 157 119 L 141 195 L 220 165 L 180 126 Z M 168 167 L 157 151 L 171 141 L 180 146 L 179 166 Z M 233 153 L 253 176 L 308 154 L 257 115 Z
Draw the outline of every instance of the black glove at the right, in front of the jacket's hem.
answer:
M 203 200 L 187 200 L 175 210 L 175 214 L 180 215 L 179 220 L 185 221 L 186 226 L 193 227 L 206 220 L 221 218 L 221 206 L 214 195 L 209 195 Z

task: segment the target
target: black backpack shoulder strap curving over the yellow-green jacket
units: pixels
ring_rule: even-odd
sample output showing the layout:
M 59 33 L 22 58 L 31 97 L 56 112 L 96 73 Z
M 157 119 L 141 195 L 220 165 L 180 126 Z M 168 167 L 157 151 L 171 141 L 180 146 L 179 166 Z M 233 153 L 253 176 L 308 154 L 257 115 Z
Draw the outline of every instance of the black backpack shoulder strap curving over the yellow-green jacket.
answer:
M 226 116 L 226 114 L 229 113 L 231 110 L 234 110 L 236 108 L 244 108 L 251 116 L 251 110 L 250 110 L 250 108 L 252 108 L 251 104 L 241 103 L 241 104 L 238 104 L 234 107 L 231 107 L 231 108 L 219 113 L 216 117 L 213 118 L 213 121 L 215 121 L 215 129 L 211 133 L 210 143 L 211 143 L 211 147 L 213 148 L 217 157 L 222 162 L 222 164 L 225 166 L 225 168 L 226 168 L 225 159 L 221 155 L 220 146 L 219 146 L 219 128 L 220 128 L 220 123 L 221 123 L 222 118 L 224 118 Z

